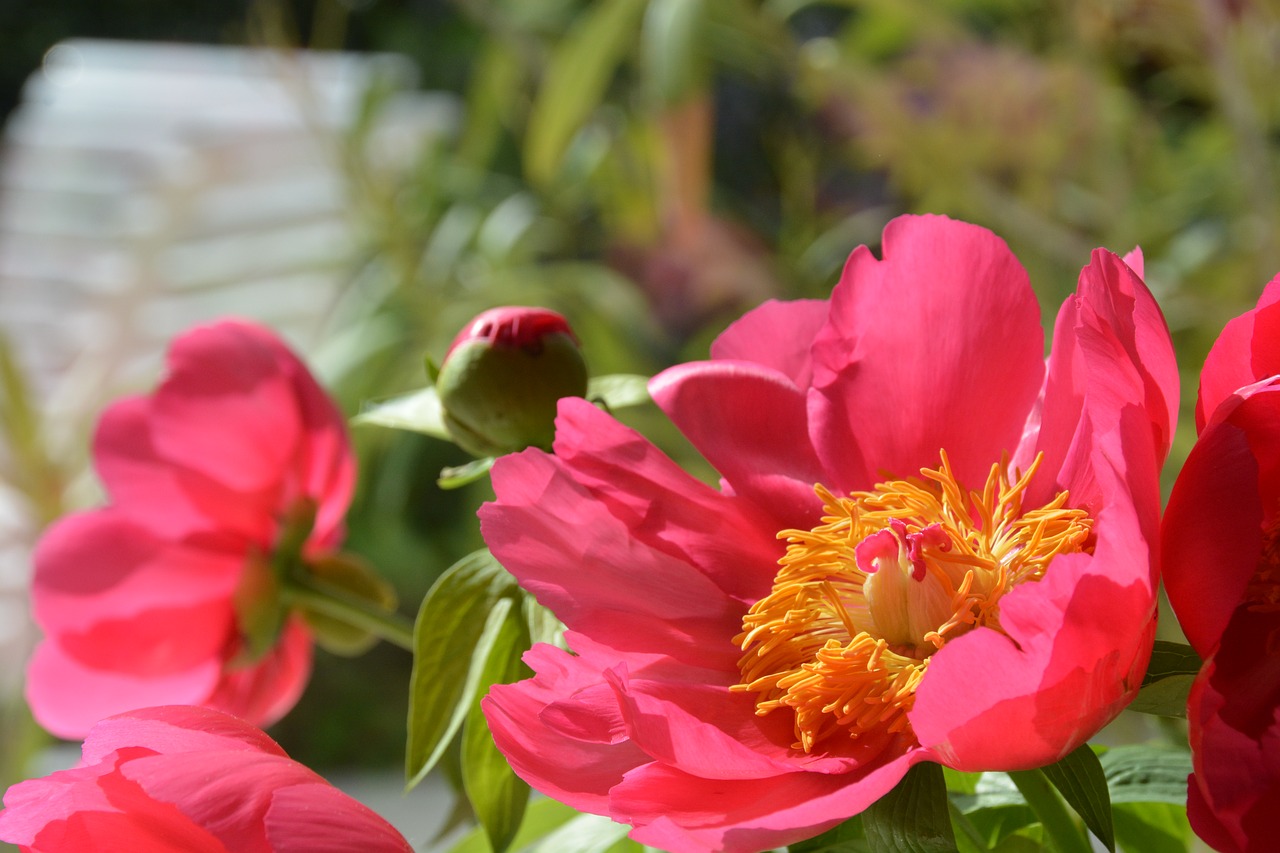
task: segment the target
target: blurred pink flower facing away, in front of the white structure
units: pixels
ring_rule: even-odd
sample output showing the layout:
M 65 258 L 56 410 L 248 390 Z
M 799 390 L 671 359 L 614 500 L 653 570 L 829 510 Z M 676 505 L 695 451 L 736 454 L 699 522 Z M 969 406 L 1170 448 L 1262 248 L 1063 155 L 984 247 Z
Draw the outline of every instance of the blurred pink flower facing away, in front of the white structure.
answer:
M 338 544 L 355 476 L 342 415 L 274 334 L 248 323 L 188 332 L 168 366 L 155 393 L 120 400 L 99 421 L 109 505 L 61 519 L 36 551 L 45 640 L 27 699 L 64 738 L 164 703 L 268 725 L 310 672 L 300 617 L 253 654 L 234 599 L 252 598 L 246 567 L 273 557 L 285 519 L 314 508 L 307 556 Z

